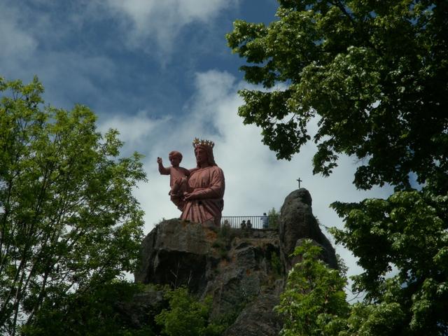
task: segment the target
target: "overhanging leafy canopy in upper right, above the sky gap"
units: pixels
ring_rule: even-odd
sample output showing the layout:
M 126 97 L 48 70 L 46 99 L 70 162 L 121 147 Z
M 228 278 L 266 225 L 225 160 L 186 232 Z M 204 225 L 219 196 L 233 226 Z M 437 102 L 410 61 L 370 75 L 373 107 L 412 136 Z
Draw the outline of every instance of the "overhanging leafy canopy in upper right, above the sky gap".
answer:
M 277 158 L 311 139 L 314 172 L 341 153 L 363 163 L 354 183 L 408 187 L 436 176 L 447 185 L 448 4 L 446 1 L 279 0 L 270 25 L 237 20 L 227 35 L 244 57 L 245 124 L 262 129 Z

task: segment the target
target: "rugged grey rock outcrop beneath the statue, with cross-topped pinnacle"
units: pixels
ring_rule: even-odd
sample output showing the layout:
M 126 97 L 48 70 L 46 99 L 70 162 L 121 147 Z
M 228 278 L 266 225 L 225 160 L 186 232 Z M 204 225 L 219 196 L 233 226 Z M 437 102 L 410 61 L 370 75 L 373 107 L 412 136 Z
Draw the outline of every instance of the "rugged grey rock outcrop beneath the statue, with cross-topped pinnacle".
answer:
M 236 314 L 225 335 L 278 335 L 281 319 L 272 311 L 279 302 L 288 269 L 297 262 L 289 255 L 302 239 L 323 246 L 323 260 L 336 267 L 335 251 L 311 210 L 311 195 L 301 188 L 281 207 L 279 230 L 211 228 L 172 219 L 157 225 L 141 245 L 141 283 L 188 286 L 198 297 L 213 297 L 213 314 Z M 157 311 L 162 293 L 134 300 L 134 323 L 145 323 Z M 141 314 L 139 315 L 139 312 Z

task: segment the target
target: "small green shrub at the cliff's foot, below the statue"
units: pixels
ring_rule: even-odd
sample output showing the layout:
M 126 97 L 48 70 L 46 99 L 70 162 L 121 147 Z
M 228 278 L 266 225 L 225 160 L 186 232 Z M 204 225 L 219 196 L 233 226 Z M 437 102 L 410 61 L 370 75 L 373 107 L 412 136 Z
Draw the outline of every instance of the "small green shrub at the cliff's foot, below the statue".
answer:
M 211 297 L 200 302 L 185 287 L 168 290 L 169 309 L 163 309 L 155 321 L 167 336 L 218 336 L 227 325 L 211 321 Z

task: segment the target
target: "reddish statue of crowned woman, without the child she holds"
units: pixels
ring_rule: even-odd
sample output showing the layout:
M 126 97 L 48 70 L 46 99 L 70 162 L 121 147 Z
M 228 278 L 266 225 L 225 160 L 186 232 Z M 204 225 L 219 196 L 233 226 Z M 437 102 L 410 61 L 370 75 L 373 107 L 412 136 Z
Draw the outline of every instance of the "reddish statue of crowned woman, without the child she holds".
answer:
M 212 141 L 197 138 L 193 141 L 197 168 L 190 169 L 186 181 L 181 218 L 195 223 L 212 222 L 220 226 L 225 183 L 223 170 L 215 163 L 214 145 Z M 179 183 L 182 181 L 175 182 Z

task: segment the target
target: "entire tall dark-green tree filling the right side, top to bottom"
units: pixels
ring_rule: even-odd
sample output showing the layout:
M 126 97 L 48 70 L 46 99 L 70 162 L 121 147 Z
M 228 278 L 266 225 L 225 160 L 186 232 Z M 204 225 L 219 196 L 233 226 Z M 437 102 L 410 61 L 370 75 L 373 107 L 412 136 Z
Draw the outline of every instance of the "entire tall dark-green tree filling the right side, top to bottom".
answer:
M 395 187 L 387 200 L 332 204 L 345 222 L 337 243 L 365 269 L 354 288 L 366 299 L 340 335 L 446 335 L 447 1 L 279 3 L 279 20 L 236 21 L 227 36 L 246 80 L 265 87 L 241 90 L 244 123 L 290 159 L 315 118 L 314 173 L 346 154 L 359 162 L 357 188 Z

